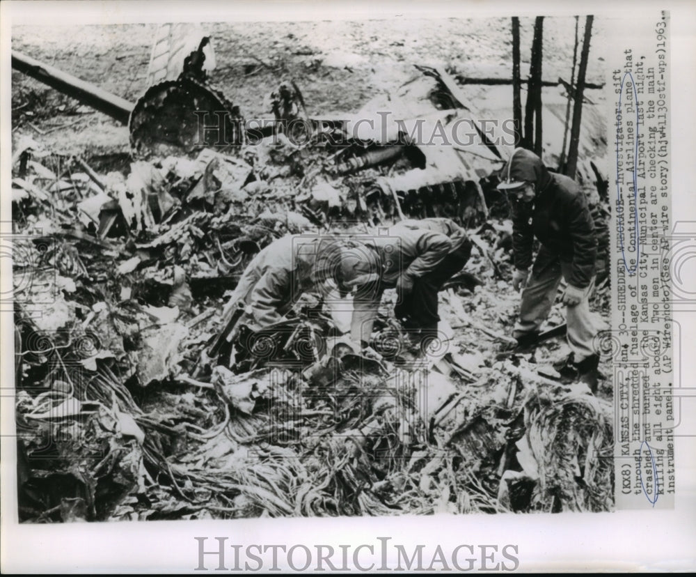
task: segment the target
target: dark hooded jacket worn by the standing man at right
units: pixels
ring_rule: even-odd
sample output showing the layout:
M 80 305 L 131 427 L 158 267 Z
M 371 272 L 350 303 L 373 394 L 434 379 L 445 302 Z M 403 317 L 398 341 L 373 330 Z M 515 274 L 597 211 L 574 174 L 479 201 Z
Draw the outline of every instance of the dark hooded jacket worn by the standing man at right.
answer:
M 532 245 L 539 239 L 551 253 L 572 263 L 569 284 L 584 289 L 595 274 L 596 235 L 585 193 L 567 176 L 549 172 L 541 159 L 517 148 L 507 167 L 509 180 L 535 183 L 531 203 L 511 200 L 512 243 L 515 266 L 528 269 Z

